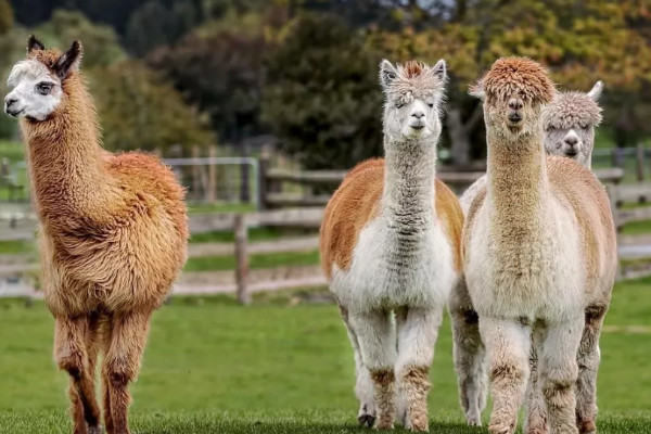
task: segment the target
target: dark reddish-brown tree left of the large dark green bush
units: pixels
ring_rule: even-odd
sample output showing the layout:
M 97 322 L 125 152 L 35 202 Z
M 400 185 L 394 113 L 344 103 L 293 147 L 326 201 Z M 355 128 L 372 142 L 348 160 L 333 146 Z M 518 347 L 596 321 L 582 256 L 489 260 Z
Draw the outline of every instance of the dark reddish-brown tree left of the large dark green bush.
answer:
M 245 130 L 255 135 L 260 124 L 263 53 L 268 47 L 258 27 L 254 33 L 218 26 L 190 35 L 175 47 L 164 47 L 148 63 L 164 75 L 202 112 L 222 141 L 237 141 Z

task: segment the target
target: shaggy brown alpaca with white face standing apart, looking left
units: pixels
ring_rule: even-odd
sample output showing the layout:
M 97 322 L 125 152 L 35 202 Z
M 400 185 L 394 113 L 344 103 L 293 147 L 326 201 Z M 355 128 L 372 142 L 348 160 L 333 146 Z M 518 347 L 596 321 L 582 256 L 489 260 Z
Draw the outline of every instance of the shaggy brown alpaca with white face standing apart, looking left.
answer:
M 30 37 L 4 110 L 22 118 L 28 146 L 44 298 L 54 359 L 71 378 L 74 432 L 101 433 L 94 374 L 103 353 L 104 423 L 127 434 L 128 384 L 150 317 L 186 261 L 184 193 L 154 156 L 102 149 L 80 60 L 79 41 L 61 53 Z

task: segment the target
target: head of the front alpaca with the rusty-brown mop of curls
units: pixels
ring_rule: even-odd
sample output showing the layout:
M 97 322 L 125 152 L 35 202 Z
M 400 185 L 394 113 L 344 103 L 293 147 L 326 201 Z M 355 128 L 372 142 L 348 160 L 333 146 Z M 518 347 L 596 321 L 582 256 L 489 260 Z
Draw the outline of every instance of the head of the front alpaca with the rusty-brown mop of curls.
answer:
M 540 112 L 556 93 L 549 73 L 526 58 L 497 60 L 470 93 L 483 99 L 486 127 L 505 138 L 540 131 Z

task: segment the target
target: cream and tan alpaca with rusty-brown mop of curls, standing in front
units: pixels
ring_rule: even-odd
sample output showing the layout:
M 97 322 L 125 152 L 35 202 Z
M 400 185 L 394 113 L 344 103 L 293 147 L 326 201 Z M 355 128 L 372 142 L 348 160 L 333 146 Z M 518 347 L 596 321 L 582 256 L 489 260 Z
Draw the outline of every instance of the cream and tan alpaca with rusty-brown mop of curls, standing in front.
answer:
M 617 260 L 608 196 L 586 167 L 545 156 L 541 110 L 554 94 L 545 68 L 500 59 L 477 87 L 488 178 L 469 209 L 463 247 L 492 381 L 489 431 L 515 431 L 533 334 L 532 394 L 544 396 L 549 426 L 531 417 L 545 411 L 529 408 L 528 432 L 595 432 L 599 333 Z

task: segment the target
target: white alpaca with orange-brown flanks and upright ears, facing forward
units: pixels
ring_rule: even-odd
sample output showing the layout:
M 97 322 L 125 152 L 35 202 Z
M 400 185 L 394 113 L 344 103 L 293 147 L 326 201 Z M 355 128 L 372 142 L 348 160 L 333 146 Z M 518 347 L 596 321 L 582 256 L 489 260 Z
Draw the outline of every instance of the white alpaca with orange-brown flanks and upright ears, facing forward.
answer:
M 405 426 L 426 431 L 429 369 L 463 225 L 457 197 L 435 179 L 445 63 L 383 61 L 380 79 L 385 159 L 361 163 L 332 196 L 321 265 L 355 350 L 359 422 L 391 429 L 398 405 Z

